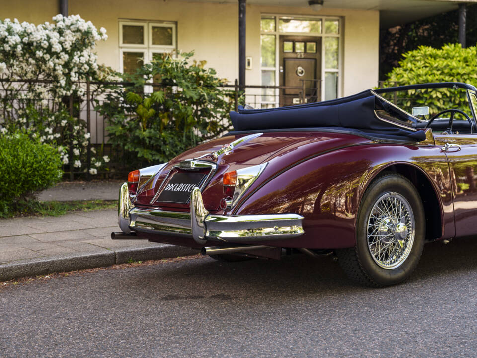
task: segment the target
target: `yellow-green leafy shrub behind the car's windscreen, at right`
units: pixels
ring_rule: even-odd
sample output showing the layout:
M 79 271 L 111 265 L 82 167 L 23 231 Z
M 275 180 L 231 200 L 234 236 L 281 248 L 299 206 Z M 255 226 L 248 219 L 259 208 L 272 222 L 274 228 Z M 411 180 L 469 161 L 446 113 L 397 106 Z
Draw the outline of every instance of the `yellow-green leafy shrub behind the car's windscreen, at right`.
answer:
M 441 49 L 420 46 L 403 55 L 383 84 L 384 87 L 414 85 L 430 82 L 464 82 L 477 85 L 477 47 L 462 48 L 447 44 Z M 397 105 L 410 110 L 412 106 L 428 106 L 431 114 L 449 108 L 468 112 L 469 106 L 462 89 L 418 89 L 399 92 Z M 392 98 L 388 98 L 392 99 Z

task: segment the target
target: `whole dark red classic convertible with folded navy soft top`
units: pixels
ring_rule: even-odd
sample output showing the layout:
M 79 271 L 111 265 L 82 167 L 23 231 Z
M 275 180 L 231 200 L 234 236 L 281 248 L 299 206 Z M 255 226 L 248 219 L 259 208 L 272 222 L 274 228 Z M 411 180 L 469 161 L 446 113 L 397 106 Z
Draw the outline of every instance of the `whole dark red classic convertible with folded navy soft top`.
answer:
M 466 99 L 410 114 L 388 100 L 406 91 Z M 111 236 L 221 260 L 334 254 L 360 284 L 396 284 L 416 268 L 424 243 L 477 234 L 476 108 L 476 88 L 463 83 L 240 107 L 233 132 L 129 173 L 122 231 Z

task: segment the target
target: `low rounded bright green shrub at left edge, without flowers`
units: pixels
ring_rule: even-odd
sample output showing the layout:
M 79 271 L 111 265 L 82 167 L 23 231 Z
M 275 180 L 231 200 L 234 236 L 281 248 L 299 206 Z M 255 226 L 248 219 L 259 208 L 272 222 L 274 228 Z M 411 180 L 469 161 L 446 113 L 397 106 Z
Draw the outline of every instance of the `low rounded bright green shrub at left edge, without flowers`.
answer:
M 0 135 L 0 216 L 58 182 L 61 165 L 58 150 L 31 139 L 25 131 Z

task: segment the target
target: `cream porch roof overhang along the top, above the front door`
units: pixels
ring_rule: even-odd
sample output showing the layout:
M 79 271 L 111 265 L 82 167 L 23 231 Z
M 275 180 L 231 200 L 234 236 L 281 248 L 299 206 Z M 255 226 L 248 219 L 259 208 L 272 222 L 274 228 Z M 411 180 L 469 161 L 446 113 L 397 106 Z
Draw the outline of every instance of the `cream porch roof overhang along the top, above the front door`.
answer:
M 189 0 L 200 2 L 237 3 L 237 0 Z M 477 0 L 324 0 L 324 8 L 379 10 L 380 27 L 389 28 L 422 18 L 457 10 L 459 3 L 474 4 Z M 263 6 L 309 7 L 308 0 L 247 0 L 247 4 Z M 317 11 L 319 14 L 319 11 Z

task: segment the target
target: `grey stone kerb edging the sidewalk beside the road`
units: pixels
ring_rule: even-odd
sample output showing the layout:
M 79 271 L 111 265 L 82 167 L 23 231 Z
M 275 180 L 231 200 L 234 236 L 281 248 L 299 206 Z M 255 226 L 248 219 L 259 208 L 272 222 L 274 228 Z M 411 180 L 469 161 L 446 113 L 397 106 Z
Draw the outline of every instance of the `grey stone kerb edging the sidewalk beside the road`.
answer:
M 135 261 L 159 260 L 194 254 L 197 254 L 197 250 L 167 244 L 140 248 L 117 248 L 114 250 L 98 248 L 98 252 L 94 253 L 48 256 L 0 265 L 0 281 L 54 272 L 107 267 L 114 264 L 123 264 L 131 259 Z

